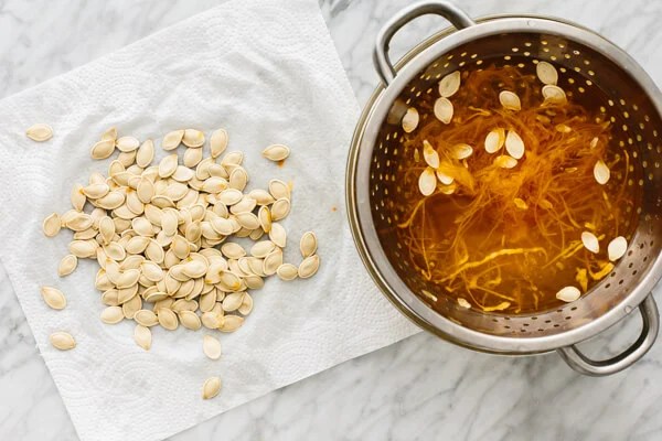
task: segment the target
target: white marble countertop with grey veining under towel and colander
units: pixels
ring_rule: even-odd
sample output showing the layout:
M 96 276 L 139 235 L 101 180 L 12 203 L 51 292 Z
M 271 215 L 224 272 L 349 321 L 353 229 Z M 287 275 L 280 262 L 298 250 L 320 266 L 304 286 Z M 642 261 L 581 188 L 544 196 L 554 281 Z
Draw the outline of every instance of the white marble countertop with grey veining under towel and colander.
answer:
M 0 0 L 0 98 L 65 73 L 216 6 L 212 0 Z M 372 45 L 406 0 L 321 0 L 356 97 L 376 84 Z M 537 13 L 591 28 L 662 85 L 662 2 L 463 0 L 472 15 Z M 445 26 L 421 18 L 394 39 L 396 56 Z M 632 318 L 583 347 L 608 356 L 636 338 Z M 558 356 L 473 353 L 426 334 L 344 363 L 213 418 L 173 440 L 656 440 L 662 344 L 630 369 L 583 377 Z M 137 422 L 139 423 L 139 422 Z M 0 439 L 76 440 L 53 380 L 0 268 Z

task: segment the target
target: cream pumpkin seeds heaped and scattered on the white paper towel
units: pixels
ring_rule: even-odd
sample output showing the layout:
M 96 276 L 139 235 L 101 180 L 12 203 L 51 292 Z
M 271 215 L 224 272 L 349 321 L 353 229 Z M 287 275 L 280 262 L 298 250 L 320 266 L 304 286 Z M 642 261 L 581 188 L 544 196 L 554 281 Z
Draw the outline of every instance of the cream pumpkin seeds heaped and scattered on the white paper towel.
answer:
M 35 125 L 26 135 L 46 141 L 52 129 Z M 107 159 L 119 150 L 108 176 L 93 173 L 86 185 L 76 184 L 73 208 L 53 213 L 43 223 L 49 237 L 61 228 L 74 232 L 70 254 L 57 268 L 60 277 L 71 275 L 78 259 L 96 260 L 95 287 L 106 305 L 100 320 L 107 324 L 134 320 L 134 338 L 146 351 L 152 343 L 150 327 L 157 325 L 169 331 L 181 324 L 194 331 L 204 326 L 234 332 L 253 310 L 248 290 L 263 288 L 264 279 L 274 275 L 282 280 L 309 278 L 320 265 L 312 232 L 300 239 L 302 260 L 284 262 L 287 233 L 279 220 L 290 212 L 290 185 L 271 180 L 268 189 L 247 192 L 243 152 L 221 158 L 228 144 L 223 129 L 211 135 L 206 158 L 202 131 L 177 130 L 162 140 L 166 151 L 181 144 L 182 164 L 172 153 L 152 165 L 152 140 L 118 138 L 115 128 L 107 130 L 92 148 L 92 158 Z M 269 146 L 263 155 L 284 161 L 289 148 Z M 233 238 L 250 238 L 254 244 L 245 249 Z M 42 287 L 41 293 L 49 306 L 66 306 L 57 288 Z M 74 336 L 62 331 L 51 335 L 51 343 L 62 351 L 76 346 Z M 205 335 L 203 352 L 218 359 L 220 341 Z M 203 398 L 216 396 L 220 388 L 218 377 L 209 378 Z

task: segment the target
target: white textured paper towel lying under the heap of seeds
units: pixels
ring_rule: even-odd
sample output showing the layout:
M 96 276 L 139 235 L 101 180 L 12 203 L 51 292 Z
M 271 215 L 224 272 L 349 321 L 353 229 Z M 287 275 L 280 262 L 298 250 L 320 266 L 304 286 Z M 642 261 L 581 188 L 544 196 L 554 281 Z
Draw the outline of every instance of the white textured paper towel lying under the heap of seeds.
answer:
M 162 439 L 415 332 L 372 284 L 346 224 L 344 165 L 357 116 L 313 0 L 228 1 L 0 101 L 0 258 L 83 440 Z M 54 138 L 30 141 L 24 131 L 35 122 L 50 123 Z M 274 277 L 254 291 L 244 326 L 220 335 L 218 362 L 202 353 L 205 330 L 153 329 L 145 352 L 132 322 L 103 324 L 96 262 L 57 277 L 71 234 L 49 239 L 42 219 L 68 209 L 75 182 L 106 172 L 109 160 L 92 161 L 89 148 L 111 126 L 141 139 L 226 128 L 228 151 L 246 153 L 249 189 L 293 182 L 286 261 L 298 262 L 303 232 L 318 234 L 319 273 Z M 259 154 L 275 142 L 292 151 L 282 168 Z M 65 310 L 43 303 L 43 284 L 66 293 Z M 51 347 L 60 330 L 76 337 L 74 351 Z M 203 401 L 212 375 L 223 390 Z

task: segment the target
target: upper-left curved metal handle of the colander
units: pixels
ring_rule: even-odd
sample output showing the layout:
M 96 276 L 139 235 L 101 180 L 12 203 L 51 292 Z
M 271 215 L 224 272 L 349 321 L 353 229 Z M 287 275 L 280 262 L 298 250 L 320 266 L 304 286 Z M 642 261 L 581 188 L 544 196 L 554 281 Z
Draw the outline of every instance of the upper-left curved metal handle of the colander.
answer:
M 391 39 L 402 26 L 420 15 L 437 14 L 444 17 L 457 29 L 469 28 L 476 22 L 460 8 L 449 1 L 444 0 L 426 0 L 414 3 L 408 8 L 396 13 L 391 20 L 384 24 L 377 34 L 377 43 L 374 52 L 374 63 L 380 78 L 384 86 L 388 86 L 395 78 L 395 68 L 388 56 L 388 45 Z

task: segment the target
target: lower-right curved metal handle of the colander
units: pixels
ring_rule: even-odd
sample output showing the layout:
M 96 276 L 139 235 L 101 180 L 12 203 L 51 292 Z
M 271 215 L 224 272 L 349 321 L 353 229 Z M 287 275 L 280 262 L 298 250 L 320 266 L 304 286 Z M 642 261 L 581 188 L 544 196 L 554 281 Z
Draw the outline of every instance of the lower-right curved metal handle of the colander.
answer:
M 649 294 L 645 300 L 641 302 L 639 312 L 641 312 L 643 322 L 641 335 L 639 335 L 639 338 L 637 338 L 637 342 L 634 342 L 632 346 L 628 347 L 628 349 L 616 357 L 604 361 L 590 359 L 580 353 L 575 345 L 557 349 L 558 354 L 568 366 L 584 375 L 601 377 L 616 374 L 617 372 L 630 367 L 651 348 L 658 336 L 658 330 L 660 329 L 660 314 L 653 294 Z

